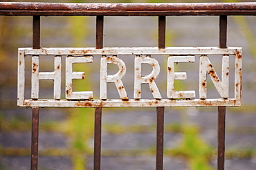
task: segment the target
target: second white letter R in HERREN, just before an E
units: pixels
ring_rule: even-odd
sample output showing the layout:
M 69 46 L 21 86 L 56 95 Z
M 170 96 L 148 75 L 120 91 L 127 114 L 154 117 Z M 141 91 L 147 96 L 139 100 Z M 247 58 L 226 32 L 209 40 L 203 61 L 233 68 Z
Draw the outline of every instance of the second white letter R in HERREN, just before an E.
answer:
M 149 64 L 153 67 L 152 73 L 149 75 L 141 75 L 141 65 Z M 140 99 L 141 97 L 141 84 L 149 84 L 149 88 L 155 99 L 161 99 L 161 94 L 156 86 L 155 79 L 160 73 L 160 66 L 156 59 L 152 57 L 135 57 L 134 61 L 135 77 L 134 77 L 134 98 Z

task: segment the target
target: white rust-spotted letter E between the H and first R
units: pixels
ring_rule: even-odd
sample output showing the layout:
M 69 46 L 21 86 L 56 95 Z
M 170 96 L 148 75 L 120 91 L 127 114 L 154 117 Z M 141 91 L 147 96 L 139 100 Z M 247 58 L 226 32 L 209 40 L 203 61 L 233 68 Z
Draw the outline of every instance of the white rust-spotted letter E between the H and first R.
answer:
M 80 100 L 92 99 L 92 91 L 75 91 L 72 90 L 72 79 L 84 79 L 84 72 L 73 72 L 73 63 L 92 63 L 93 57 L 66 57 L 66 99 Z

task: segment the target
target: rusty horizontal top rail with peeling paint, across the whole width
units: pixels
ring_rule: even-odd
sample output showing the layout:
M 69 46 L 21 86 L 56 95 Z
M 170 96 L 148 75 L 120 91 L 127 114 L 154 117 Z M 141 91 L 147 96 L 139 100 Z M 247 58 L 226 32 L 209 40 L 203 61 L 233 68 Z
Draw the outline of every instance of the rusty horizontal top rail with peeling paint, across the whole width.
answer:
M 0 15 L 256 15 L 256 3 L 1 2 Z

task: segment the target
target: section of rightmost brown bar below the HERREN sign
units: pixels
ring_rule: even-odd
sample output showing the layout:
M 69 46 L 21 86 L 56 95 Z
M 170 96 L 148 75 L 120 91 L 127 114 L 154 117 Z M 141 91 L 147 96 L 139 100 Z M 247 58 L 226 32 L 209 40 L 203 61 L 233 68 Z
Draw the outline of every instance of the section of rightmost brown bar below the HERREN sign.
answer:
M 226 106 L 218 107 L 218 160 L 217 169 L 224 169 L 225 162 L 225 124 L 226 124 Z

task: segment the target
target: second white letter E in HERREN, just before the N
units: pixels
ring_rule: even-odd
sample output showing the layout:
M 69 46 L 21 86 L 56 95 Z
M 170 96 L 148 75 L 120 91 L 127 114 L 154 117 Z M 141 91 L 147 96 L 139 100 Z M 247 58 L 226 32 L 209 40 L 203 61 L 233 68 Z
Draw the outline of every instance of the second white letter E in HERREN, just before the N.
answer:
M 188 99 L 196 97 L 195 91 L 175 91 L 174 79 L 187 79 L 187 73 L 174 72 L 174 63 L 194 62 L 194 56 L 170 56 L 168 57 L 167 72 L 167 97 L 169 99 Z

